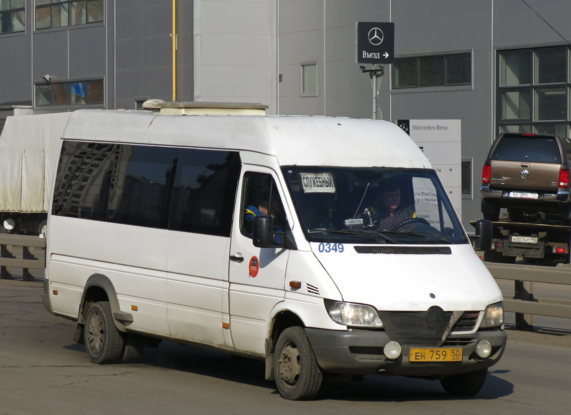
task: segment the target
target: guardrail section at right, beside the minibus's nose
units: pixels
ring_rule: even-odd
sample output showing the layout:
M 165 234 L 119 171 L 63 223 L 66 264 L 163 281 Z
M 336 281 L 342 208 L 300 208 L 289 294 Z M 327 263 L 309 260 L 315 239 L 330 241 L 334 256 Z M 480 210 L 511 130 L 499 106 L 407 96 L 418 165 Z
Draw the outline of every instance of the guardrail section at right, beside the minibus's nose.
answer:
M 549 317 L 571 318 L 571 301 L 533 296 L 532 282 L 571 285 L 571 268 L 537 265 L 512 265 L 484 262 L 489 272 L 497 280 L 512 280 L 515 295 L 504 296 L 504 310 L 516 313 L 516 329 L 533 327 L 528 314 Z

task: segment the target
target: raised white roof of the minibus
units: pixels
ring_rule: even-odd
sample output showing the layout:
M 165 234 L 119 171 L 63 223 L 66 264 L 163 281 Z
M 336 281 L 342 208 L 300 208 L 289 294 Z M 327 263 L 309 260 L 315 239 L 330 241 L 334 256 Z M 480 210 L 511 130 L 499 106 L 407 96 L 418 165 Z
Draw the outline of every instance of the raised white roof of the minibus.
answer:
M 63 138 L 250 150 L 284 166 L 432 168 L 398 126 L 370 119 L 77 110 Z

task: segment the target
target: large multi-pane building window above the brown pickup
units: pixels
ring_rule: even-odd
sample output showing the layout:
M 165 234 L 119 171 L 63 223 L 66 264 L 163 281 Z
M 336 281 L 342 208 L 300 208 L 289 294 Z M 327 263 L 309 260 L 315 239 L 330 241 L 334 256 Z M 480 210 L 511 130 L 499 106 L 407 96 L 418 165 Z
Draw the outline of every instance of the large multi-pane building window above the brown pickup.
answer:
M 571 48 L 498 53 L 497 133 L 569 136 Z

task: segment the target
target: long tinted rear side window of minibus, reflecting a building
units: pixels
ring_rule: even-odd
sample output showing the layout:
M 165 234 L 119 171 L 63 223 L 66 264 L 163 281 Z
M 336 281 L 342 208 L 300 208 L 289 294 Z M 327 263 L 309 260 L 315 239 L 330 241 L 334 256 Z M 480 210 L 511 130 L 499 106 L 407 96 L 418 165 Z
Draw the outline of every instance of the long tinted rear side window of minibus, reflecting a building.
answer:
M 178 149 L 63 143 L 52 213 L 166 229 Z

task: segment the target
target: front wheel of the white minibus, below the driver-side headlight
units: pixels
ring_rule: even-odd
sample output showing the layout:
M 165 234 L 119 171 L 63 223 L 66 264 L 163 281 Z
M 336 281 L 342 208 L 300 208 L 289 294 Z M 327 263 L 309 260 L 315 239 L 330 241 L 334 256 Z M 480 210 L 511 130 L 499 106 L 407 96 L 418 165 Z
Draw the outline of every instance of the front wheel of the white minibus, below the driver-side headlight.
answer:
M 323 374 L 301 327 L 289 327 L 280 334 L 275 347 L 274 374 L 278 391 L 286 399 L 305 401 L 319 392 Z

